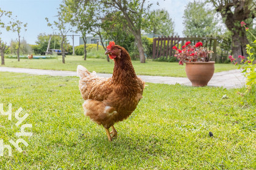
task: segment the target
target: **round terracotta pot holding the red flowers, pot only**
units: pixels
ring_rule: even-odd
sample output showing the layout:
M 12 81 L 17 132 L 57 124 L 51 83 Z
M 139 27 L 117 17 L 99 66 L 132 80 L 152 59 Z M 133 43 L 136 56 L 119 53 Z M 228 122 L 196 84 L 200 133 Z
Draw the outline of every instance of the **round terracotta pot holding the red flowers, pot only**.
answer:
M 207 86 L 213 77 L 214 64 L 215 61 L 186 63 L 186 74 L 192 86 Z

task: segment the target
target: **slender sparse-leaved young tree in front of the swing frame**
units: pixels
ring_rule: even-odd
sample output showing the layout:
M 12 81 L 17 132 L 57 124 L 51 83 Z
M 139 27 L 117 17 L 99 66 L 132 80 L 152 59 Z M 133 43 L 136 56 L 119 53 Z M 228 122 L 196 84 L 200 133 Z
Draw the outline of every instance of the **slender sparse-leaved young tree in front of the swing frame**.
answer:
M 62 49 L 62 63 L 65 64 L 65 46 L 66 44 L 66 34 L 69 32 L 70 28 L 67 25 L 67 22 L 69 20 L 70 16 L 66 16 L 65 12 L 59 9 L 58 11 L 58 19 L 54 21 L 52 24 L 49 22 L 48 18 L 45 18 L 48 22 L 48 26 L 51 27 L 54 30 L 59 31 L 62 41 L 61 41 L 61 49 Z

